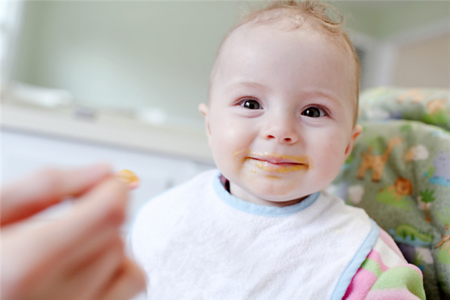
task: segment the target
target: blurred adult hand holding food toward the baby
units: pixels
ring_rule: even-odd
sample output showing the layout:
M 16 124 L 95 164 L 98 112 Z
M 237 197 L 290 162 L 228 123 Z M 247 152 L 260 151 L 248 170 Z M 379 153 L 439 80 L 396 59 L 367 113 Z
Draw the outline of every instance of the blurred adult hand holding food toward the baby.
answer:
M 0 298 L 121 300 L 143 290 L 120 237 L 127 190 L 105 165 L 44 170 L 2 188 Z M 30 220 L 66 197 L 75 201 L 64 218 Z

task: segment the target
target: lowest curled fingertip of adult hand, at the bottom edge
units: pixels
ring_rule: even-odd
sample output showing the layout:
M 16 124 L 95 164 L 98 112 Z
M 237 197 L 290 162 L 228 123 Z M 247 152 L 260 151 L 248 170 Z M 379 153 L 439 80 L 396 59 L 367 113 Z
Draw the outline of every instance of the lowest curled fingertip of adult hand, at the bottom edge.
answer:
M 145 290 L 145 276 L 136 263 L 128 258 L 124 262 L 122 269 L 116 274 L 108 288 L 97 299 L 117 300 L 130 299 L 138 292 Z

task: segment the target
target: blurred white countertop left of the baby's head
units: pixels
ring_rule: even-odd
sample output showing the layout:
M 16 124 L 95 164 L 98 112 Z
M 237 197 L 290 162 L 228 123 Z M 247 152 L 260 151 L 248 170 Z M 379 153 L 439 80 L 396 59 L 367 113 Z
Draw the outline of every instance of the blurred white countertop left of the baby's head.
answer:
M 213 162 L 204 130 L 183 125 L 151 125 L 108 112 L 83 118 L 75 114 L 73 107 L 48 108 L 5 100 L 0 104 L 2 129 Z

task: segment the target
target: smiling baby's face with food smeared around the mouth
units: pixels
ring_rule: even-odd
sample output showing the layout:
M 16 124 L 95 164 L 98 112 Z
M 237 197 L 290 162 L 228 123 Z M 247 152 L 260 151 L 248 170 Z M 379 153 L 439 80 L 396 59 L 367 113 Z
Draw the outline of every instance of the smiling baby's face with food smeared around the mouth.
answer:
M 217 63 L 201 111 L 231 193 L 282 206 L 330 184 L 359 134 L 350 54 L 308 28 L 259 25 L 238 28 Z

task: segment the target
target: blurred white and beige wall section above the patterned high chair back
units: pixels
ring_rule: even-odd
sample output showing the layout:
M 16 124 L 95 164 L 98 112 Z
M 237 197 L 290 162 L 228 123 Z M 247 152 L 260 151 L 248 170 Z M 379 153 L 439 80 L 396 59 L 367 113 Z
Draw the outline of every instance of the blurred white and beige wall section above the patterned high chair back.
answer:
M 364 51 L 362 89 L 385 85 L 450 88 L 450 18 L 382 38 L 355 32 L 351 36 Z

